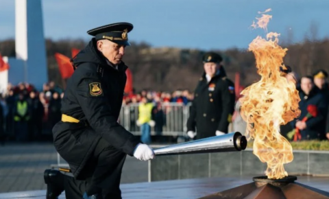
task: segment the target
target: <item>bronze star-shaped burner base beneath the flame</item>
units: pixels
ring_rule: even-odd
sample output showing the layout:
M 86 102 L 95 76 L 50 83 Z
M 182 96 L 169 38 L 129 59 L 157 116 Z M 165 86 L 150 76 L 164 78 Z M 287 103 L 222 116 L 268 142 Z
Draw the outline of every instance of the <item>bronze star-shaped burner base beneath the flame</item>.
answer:
M 296 176 L 269 179 L 267 176 L 252 178 L 254 183 L 241 185 L 199 199 L 329 199 L 329 193 L 295 183 Z

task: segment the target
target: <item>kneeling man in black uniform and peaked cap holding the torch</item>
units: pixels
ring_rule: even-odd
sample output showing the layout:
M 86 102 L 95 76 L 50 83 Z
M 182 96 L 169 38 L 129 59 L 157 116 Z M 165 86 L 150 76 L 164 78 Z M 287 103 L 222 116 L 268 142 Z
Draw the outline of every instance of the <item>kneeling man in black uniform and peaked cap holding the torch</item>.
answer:
M 117 122 L 127 79 L 122 59 L 132 28 L 130 23 L 114 23 L 89 30 L 94 38 L 73 58 L 75 72 L 67 83 L 62 121 L 53 127 L 53 140 L 74 178 L 46 170 L 49 199 L 63 189 L 70 199 L 119 199 L 126 154 L 154 159 L 153 150 Z

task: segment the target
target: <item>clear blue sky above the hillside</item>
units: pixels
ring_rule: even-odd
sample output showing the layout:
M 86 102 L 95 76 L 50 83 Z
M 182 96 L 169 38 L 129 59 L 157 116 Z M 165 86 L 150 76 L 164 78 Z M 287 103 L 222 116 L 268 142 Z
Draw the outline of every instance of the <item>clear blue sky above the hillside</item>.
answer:
M 35 1 L 35 0 L 27 0 Z M 100 25 L 134 24 L 130 40 L 154 47 L 247 48 L 263 31 L 249 26 L 258 11 L 271 8 L 269 31 L 293 42 L 303 40 L 315 23 L 319 38 L 329 37 L 327 0 L 42 0 L 47 38 L 84 38 Z M 0 40 L 14 38 L 14 0 L 0 0 Z

